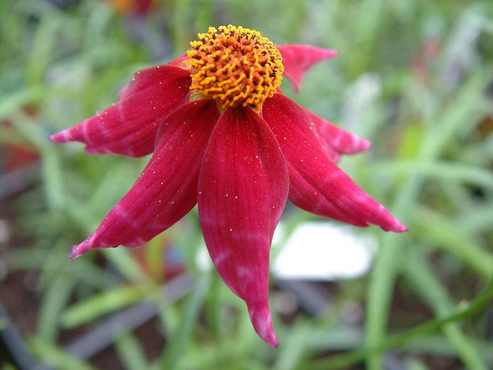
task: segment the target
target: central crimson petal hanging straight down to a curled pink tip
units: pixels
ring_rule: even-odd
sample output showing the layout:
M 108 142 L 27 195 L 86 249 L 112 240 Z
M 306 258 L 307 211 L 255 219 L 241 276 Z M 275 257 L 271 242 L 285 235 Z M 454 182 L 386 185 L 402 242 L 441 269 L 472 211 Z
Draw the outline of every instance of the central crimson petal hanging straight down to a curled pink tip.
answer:
M 277 339 L 267 302 L 272 234 L 289 179 L 279 144 L 250 108 L 224 112 L 207 145 L 198 181 L 198 216 L 214 265 L 243 298 L 258 335 Z

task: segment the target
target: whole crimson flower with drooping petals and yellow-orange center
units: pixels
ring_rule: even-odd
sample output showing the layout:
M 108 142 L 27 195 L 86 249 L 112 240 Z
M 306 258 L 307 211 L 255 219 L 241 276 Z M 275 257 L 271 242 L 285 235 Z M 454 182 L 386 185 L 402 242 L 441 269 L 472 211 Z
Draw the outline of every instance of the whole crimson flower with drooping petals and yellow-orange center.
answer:
M 127 195 L 70 258 L 95 248 L 140 245 L 198 203 L 208 251 L 223 281 L 245 300 L 253 327 L 278 342 L 267 301 L 272 234 L 287 199 L 306 211 L 386 231 L 403 226 L 334 160 L 370 143 L 282 95 L 282 74 L 299 90 L 307 69 L 336 52 L 274 44 L 258 31 L 209 28 L 191 50 L 137 72 L 118 101 L 55 142 L 89 153 L 154 152 Z

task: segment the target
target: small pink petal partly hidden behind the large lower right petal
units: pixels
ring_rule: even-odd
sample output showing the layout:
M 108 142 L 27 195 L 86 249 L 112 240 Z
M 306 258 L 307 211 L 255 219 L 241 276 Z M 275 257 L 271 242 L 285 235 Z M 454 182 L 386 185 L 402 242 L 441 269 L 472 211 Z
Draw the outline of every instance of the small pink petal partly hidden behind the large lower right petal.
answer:
M 368 140 L 341 129 L 341 127 L 324 120 L 307 109 L 304 109 L 304 112 L 312 119 L 322 141 L 334 147 L 336 151 L 344 154 L 354 154 L 371 148 L 371 142 Z

